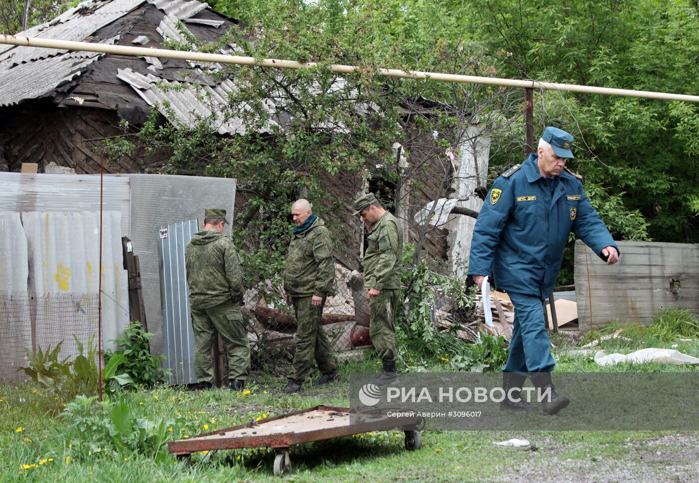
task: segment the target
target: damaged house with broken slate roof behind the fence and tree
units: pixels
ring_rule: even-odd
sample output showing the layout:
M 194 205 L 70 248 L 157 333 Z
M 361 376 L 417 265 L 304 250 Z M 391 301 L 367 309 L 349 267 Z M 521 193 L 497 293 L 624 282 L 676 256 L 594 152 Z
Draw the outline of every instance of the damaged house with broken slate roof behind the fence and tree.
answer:
M 240 27 L 237 20 L 196 0 L 91 0 L 19 35 L 161 48 L 164 41 L 185 42 L 183 29 L 198 41 L 214 43 L 229 29 Z M 220 52 L 236 51 L 236 45 L 229 47 Z M 103 140 L 123 134 L 122 120 L 138 127 L 157 108 L 163 122 L 194 122 L 212 109 L 201 92 L 225 103 L 235 79 L 217 80 L 203 69 L 177 59 L 2 45 L 0 170 L 19 171 L 22 163 L 36 163 L 39 172 L 50 171 L 55 164 L 76 173 L 99 173 Z M 161 89 L 163 85 L 174 88 Z M 435 103 L 421 99 L 409 107 L 406 126 L 410 115 L 428 115 Z M 229 120 L 218 131 L 235 136 L 245 129 Z M 344 212 L 333 214 L 347 228 L 338 234 L 336 259 L 351 269 L 359 266 L 363 226 L 351 216 L 351 204 L 357 194 L 371 190 L 393 205 L 391 211 L 403 222 L 406 241 L 444 261 L 445 271 L 463 275 L 475 219 L 456 213 L 471 210 L 473 214 L 480 209 L 482 201 L 474 193 L 484 188 L 487 178 L 489 141 L 478 133 L 474 124 L 460 150 L 435 159 L 421 152 L 421 146 L 436 133 L 406 131 L 405 139 L 394 145 L 396 159 L 405 168 L 426 166 L 412 171 L 416 174 L 410 183 L 396 186 L 377 173 L 325 176 L 324 187 L 345 206 Z M 426 161 L 426 156 L 433 159 Z M 126 154 L 106 164 L 104 171 L 148 173 L 167 161 L 166 152 Z

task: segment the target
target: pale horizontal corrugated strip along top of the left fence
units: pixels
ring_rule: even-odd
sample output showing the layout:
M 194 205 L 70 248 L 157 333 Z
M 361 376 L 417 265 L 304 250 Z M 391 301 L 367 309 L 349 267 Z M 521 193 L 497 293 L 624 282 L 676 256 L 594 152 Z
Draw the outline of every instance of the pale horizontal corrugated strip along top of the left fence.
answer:
M 0 185 L 0 211 L 99 211 L 99 175 L 3 172 Z M 103 210 L 121 212 L 122 236 L 129 236 L 129 178 L 104 177 Z

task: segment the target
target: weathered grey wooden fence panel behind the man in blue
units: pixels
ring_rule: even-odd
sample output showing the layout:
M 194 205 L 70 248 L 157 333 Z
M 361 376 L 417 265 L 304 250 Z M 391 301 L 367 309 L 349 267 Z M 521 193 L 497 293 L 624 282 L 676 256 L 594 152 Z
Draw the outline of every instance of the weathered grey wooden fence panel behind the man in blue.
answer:
M 610 322 L 649 325 L 664 308 L 699 312 L 699 245 L 617 242 L 621 257 L 607 265 L 575 242 L 575 300 L 580 329 Z

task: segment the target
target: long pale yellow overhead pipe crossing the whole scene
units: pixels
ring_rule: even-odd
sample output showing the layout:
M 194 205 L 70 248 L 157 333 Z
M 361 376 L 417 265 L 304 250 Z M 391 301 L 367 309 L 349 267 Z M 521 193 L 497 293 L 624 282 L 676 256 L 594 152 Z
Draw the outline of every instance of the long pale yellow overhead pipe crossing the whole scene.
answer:
M 218 62 L 220 64 L 238 64 L 243 66 L 275 67 L 277 69 L 310 69 L 315 62 L 296 62 L 293 60 L 263 59 L 242 57 L 240 55 L 206 54 L 203 52 L 187 52 L 184 50 L 154 49 L 147 47 L 131 47 L 128 45 L 107 45 L 103 43 L 59 41 L 51 38 L 19 37 L 0 35 L 0 44 L 20 45 L 24 47 L 39 47 L 58 50 L 82 50 L 86 52 L 103 52 L 106 54 L 131 55 L 134 57 L 159 57 L 161 59 L 181 59 L 199 62 Z M 360 68 L 342 64 L 331 64 L 334 73 L 354 73 Z M 386 77 L 405 79 L 436 80 L 439 82 L 460 82 L 463 84 L 499 85 L 503 87 L 521 87 L 530 89 L 545 89 L 566 92 L 581 92 L 586 94 L 603 94 L 607 96 L 642 97 L 645 99 L 663 99 L 667 101 L 686 101 L 699 103 L 699 96 L 686 94 L 670 94 L 666 92 L 636 91 L 633 89 L 612 89 L 610 87 L 594 87 L 589 85 L 560 84 L 557 82 L 541 82 L 539 80 L 517 80 L 477 75 L 459 75 L 438 72 L 402 71 L 401 69 L 378 69 L 377 73 Z

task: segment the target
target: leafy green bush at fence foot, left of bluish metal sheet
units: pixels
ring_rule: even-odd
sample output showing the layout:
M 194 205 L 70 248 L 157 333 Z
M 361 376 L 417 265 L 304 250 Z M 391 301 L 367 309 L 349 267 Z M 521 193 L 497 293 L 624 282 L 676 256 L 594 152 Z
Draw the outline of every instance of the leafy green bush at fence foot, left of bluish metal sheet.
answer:
M 148 341 L 153 336 L 153 333 L 143 329 L 140 322 L 129 324 L 120 336 L 113 340 L 119 349 L 115 352 L 107 351 L 108 363 L 104 373 L 108 373 L 107 368 L 113 368 L 110 377 L 114 377 L 115 383 L 120 385 L 143 384 L 150 387 L 158 382 L 165 382 L 165 376 L 168 373 L 161 368 L 160 361 L 166 359 L 166 356 L 150 354 Z M 115 365 L 110 366 L 113 363 Z M 117 366 L 124 370 L 124 374 L 115 375 Z M 107 380 L 106 376 L 105 380 Z

